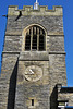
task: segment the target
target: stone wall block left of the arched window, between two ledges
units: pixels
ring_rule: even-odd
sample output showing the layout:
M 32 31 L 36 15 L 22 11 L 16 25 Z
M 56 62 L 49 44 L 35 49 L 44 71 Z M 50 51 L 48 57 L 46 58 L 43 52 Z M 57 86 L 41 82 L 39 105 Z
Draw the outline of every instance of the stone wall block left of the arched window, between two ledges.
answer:
M 21 39 L 22 37 L 19 35 L 5 36 L 4 51 L 21 51 L 22 48 Z

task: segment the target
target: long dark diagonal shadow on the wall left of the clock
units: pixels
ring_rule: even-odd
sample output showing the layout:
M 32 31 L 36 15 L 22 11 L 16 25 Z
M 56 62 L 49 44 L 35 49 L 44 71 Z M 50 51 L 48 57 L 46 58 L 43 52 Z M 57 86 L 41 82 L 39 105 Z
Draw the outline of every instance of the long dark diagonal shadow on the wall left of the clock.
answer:
M 15 63 L 14 70 L 10 78 L 9 96 L 8 96 L 8 108 L 14 109 L 15 104 L 15 88 L 16 88 L 16 77 L 17 77 L 17 61 Z

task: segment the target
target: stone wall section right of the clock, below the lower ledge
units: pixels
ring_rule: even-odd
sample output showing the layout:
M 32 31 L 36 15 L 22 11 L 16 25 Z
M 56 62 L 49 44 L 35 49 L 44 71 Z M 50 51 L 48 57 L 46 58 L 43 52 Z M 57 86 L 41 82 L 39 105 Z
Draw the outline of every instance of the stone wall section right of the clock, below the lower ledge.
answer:
M 50 100 L 51 109 L 57 108 L 57 90 L 56 85 L 62 84 L 66 86 L 66 72 L 65 72 L 65 56 L 64 55 L 49 55 L 50 64 Z

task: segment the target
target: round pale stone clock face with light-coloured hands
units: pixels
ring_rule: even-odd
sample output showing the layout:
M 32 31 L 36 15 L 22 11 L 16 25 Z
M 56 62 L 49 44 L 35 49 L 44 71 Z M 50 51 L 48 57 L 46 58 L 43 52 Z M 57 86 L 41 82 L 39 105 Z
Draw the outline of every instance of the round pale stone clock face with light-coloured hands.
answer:
M 25 70 L 25 78 L 31 82 L 36 82 L 42 76 L 42 69 L 37 65 L 27 66 Z

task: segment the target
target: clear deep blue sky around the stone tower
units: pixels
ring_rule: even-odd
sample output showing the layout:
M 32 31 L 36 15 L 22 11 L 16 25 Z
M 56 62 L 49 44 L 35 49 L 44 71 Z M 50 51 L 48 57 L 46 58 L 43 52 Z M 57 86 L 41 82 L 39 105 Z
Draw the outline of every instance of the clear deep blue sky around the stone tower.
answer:
M 2 15 L 8 14 L 9 5 L 19 5 L 19 8 L 22 9 L 23 5 L 33 5 L 34 2 L 35 0 L 0 0 L 0 61 L 3 50 L 4 32 L 7 26 L 7 19 Z M 39 4 L 48 5 L 48 9 L 52 9 L 52 5 L 63 7 L 68 86 L 73 86 L 73 0 L 39 0 Z

